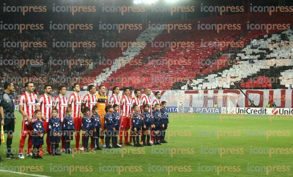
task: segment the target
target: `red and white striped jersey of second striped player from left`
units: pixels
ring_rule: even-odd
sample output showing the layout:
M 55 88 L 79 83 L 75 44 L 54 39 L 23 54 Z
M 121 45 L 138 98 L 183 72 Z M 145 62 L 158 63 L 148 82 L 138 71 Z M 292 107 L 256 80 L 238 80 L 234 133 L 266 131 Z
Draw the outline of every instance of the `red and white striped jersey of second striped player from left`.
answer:
M 49 122 L 49 118 L 51 118 L 51 111 L 53 107 L 53 97 L 51 95 L 47 96 L 46 94 L 41 95 L 38 100 L 39 109 L 42 112 L 44 118 L 46 118 L 46 122 Z

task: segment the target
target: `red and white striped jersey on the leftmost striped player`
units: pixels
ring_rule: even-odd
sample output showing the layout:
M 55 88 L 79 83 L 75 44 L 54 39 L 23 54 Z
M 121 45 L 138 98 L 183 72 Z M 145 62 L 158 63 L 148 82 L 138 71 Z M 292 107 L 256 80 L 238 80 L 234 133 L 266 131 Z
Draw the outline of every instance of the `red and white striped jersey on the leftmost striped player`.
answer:
M 36 110 L 36 104 L 37 104 L 37 95 L 35 93 L 29 94 L 28 92 L 25 92 L 20 96 L 19 105 L 23 105 L 23 111 L 30 118 L 33 118 L 34 116 L 34 112 Z

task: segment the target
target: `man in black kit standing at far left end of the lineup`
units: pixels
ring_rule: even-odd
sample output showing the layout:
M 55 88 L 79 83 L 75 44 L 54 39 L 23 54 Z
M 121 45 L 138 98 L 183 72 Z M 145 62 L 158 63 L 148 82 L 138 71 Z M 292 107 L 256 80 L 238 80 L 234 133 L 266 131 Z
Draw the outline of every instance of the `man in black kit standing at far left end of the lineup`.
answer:
M 4 134 L 7 133 L 6 139 L 6 159 L 16 159 L 11 153 L 11 144 L 16 124 L 14 115 L 14 85 L 12 82 L 4 83 L 4 91 L 0 93 L 0 119 L 3 125 Z M 1 129 L 1 126 L 0 126 Z M 1 132 L 1 131 L 0 131 Z M 1 141 L 0 141 L 1 145 Z M 2 161 L 0 157 L 0 161 Z

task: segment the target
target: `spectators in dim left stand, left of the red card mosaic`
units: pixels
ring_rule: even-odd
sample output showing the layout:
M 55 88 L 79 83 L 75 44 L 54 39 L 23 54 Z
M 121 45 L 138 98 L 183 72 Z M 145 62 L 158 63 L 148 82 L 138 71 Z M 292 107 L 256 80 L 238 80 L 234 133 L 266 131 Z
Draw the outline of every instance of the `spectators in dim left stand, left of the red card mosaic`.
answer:
M 0 90 L 7 81 L 13 81 L 16 95 L 24 92 L 23 86 L 26 81 L 35 83 L 35 89 L 42 93 L 42 85 L 45 83 L 57 86 L 63 84 L 67 89 L 72 87 L 73 77 L 81 77 L 86 74 L 88 65 L 77 64 L 68 66 L 68 60 L 91 59 L 94 63 L 99 60 L 107 60 L 109 48 L 102 47 L 102 39 L 114 40 L 117 33 L 113 31 L 102 32 L 31 32 L 26 31 L 22 34 L 16 31 L 5 31 L 0 33 Z M 71 47 L 52 47 L 53 41 L 96 41 L 94 48 L 75 48 Z M 42 42 L 46 41 L 46 47 L 34 48 L 27 47 L 23 50 L 24 41 Z M 14 44 L 14 45 L 13 45 Z M 15 46 L 15 47 L 10 47 Z M 28 60 L 42 61 L 41 65 L 34 66 Z M 62 63 L 52 64 L 55 61 Z M 65 82 L 59 81 L 65 78 Z M 27 79 L 27 80 L 26 80 Z M 43 81 L 45 80 L 45 82 Z M 2 88 L 2 89 L 1 89 Z M 57 93 L 55 93 L 57 94 Z

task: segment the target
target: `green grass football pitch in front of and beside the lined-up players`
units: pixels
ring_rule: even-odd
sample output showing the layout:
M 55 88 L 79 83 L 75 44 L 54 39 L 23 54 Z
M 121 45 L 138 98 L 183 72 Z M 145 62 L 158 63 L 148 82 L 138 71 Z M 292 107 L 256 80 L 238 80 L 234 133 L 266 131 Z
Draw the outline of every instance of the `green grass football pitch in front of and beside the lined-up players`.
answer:
M 0 162 L 0 177 L 24 176 L 19 172 L 38 177 L 291 177 L 292 118 L 170 113 L 165 138 L 168 143 L 163 145 L 74 151 L 54 157 L 44 154 L 43 159 L 5 159 L 4 142 L 0 148 L 4 158 Z M 17 111 L 12 145 L 15 156 L 20 131 L 21 117 Z M 72 148 L 74 144 L 73 140 Z

